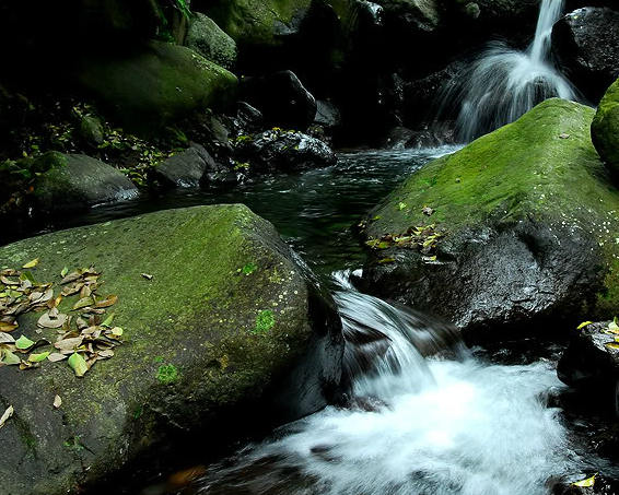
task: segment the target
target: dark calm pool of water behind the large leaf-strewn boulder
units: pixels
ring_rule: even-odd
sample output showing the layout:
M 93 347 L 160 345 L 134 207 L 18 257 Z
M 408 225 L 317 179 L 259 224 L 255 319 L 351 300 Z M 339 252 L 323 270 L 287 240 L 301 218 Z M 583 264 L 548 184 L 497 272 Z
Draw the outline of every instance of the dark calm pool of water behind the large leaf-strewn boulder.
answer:
M 284 240 L 319 274 L 359 266 L 361 249 L 350 227 L 384 196 L 428 161 L 455 148 L 339 155 L 336 166 L 262 176 L 229 191 L 177 189 L 163 196 L 98 207 L 80 215 L 57 215 L 4 226 L 0 245 L 32 235 L 171 208 L 244 203 L 269 220 Z

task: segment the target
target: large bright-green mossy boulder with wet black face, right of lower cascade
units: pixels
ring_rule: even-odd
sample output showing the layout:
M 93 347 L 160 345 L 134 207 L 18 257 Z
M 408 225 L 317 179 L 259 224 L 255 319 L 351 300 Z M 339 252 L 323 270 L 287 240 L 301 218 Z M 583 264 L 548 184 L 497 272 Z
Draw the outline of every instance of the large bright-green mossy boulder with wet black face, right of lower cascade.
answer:
M 619 192 L 593 116 L 549 99 L 413 174 L 369 215 L 378 249 L 363 287 L 453 320 L 469 342 L 612 316 Z

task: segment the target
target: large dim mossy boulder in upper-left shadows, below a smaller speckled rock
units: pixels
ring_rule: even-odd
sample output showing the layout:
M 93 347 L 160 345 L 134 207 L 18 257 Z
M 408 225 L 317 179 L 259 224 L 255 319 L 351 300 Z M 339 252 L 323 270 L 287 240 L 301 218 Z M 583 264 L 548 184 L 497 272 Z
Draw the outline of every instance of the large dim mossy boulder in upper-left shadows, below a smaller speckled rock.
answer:
M 155 134 L 162 126 L 236 102 L 236 76 L 194 50 L 149 42 L 82 57 L 74 76 L 124 129 Z

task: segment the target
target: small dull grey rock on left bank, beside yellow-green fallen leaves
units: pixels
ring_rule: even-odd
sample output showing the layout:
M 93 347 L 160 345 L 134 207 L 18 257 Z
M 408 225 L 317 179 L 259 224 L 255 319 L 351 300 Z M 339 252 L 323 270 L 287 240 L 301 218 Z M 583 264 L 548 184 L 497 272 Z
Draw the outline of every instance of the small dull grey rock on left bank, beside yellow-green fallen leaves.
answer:
M 203 149 L 202 152 L 207 153 Z M 161 162 L 150 174 L 163 187 L 196 187 L 206 168 L 207 164 L 200 153 L 195 148 L 189 148 Z

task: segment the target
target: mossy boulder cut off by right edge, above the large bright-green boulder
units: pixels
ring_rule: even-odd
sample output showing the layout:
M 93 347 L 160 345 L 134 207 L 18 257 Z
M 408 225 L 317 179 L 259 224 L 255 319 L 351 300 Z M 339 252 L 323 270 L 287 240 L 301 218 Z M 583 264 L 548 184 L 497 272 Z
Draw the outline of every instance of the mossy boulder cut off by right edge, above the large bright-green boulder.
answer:
M 619 173 L 619 80 L 608 89 L 593 119 L 591 135 L 602 160 Z

